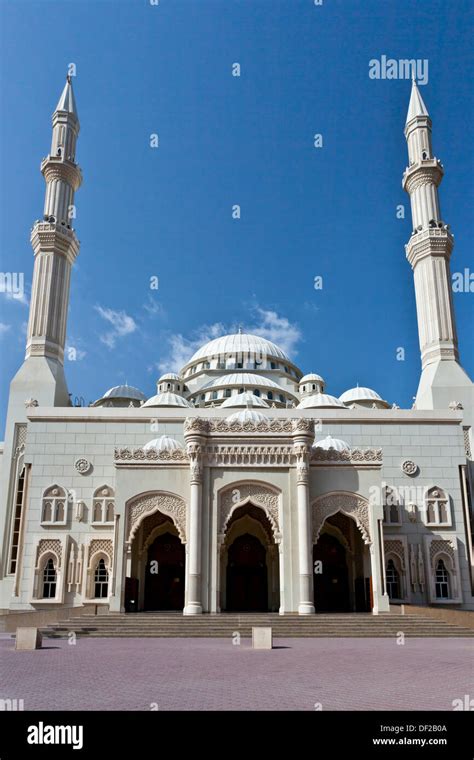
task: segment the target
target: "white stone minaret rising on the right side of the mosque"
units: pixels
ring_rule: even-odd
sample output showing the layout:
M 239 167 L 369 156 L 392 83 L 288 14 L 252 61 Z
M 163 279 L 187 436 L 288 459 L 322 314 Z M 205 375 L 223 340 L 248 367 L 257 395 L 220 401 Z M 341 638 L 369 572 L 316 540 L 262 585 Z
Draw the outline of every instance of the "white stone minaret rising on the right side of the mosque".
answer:
M 459 364 L 449 266 L 454 239 L 438 197 L 444 169 L 433 155 L 431 119 L 414 78 L 405 137 L 409 166 L 402 185 L 410 195 L 413 219 L 405 249 L 415 280 L 422 366 L 416 407 L 446 409 L 451 401 L 462 401 L 461 388 L 469 388 L 470 396 L 472 383 Z

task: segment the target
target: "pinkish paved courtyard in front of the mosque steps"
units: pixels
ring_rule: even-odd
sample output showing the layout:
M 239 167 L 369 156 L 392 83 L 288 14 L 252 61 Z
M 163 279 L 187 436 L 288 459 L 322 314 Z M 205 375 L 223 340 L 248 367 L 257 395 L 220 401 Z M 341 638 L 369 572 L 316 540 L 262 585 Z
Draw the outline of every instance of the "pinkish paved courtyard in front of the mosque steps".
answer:
M 473 639 L 0 639 L 0 698 L 25 710 L 452 710 Z M 153 705 L 153 708 L 151 707 Z

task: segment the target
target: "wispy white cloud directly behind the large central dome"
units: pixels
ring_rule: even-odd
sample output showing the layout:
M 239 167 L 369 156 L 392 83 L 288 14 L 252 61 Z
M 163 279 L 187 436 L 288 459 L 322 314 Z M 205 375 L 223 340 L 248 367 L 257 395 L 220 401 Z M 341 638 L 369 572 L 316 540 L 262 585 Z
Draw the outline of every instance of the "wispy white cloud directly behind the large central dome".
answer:
M 295 356 L 296 345 L 301 340 L 301 330 L 298 325 L 280 316 L 276 311 L 262 309 L 260 306 L 253 307 L 252 311 L 255 314 L 255 321 L 242 325 L 243 332 L 267 338 L 276 343 L 290 357 Z M 168 338 L 169 350 L 158 362 L 157 369 L 159 372 L 179 372 L 194 352 L 205 343 L 234 332 L 237 332 L 235 325 L 214 322 L 211 325 L 203 325 L 190 338 L 184 337 L 181 333 L 171 335 Z

